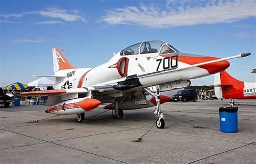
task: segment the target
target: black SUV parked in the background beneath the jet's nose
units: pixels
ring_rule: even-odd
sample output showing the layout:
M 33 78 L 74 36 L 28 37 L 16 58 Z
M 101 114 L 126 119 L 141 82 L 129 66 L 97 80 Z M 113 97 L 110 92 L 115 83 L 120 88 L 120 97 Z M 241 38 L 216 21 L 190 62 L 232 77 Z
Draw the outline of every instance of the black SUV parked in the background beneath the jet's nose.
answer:
M 190 101 L 193 100 L 194 102 L 197 101 L 197 91 L 195 90 L 181 90 L 177 94 L 173 95 L 172 100 L 174 102 L 177 101 Z

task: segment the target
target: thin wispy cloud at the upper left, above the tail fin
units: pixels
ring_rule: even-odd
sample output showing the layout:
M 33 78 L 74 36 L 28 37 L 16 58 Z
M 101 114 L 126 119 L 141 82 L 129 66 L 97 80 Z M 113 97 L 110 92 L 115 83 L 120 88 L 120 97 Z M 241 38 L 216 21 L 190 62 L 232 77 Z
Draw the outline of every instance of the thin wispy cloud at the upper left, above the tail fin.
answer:
M 0 17 L 20 18 L 25 15 L 40 15 L 40 16 L 50 17 L 50 18 L 59 18 L 68 22 L 82 21 L 86 23 L 86 19 L 83 16 L 79 15 L 79 12 L 77 10 L 63 10 L 58 8 L 48 8 L 40 11 L 30 11 L 30 12 L 22 12 L 22 13 L 10 13 L 8 15 L 2 14 L 0 15 Z

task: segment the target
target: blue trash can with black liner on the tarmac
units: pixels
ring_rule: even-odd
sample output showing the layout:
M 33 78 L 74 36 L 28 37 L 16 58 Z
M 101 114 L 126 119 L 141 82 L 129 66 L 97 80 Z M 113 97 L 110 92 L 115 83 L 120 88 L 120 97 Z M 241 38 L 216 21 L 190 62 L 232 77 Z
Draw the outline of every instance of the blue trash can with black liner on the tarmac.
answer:
M 224 133 L 238 132 L 238 107 L 219 108 L 220 131 Z

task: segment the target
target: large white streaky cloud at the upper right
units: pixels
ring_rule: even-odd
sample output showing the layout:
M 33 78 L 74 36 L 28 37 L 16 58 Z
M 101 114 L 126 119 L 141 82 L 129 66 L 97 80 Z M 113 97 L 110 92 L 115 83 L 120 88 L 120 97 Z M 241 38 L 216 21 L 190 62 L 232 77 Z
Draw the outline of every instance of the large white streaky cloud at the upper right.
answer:
M 100 22 L 112 25 L 134 24 L 149 28 L 230 23 L 255 17 L 254 0 L 241 1 L 167 1 L 165 7 L 141 5 L 107 11 Z

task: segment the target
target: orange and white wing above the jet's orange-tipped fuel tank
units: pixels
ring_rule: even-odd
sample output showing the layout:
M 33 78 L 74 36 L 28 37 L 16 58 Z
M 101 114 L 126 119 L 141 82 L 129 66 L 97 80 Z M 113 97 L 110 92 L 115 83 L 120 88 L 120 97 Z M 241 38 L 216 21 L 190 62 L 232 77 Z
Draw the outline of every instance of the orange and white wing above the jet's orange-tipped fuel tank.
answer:
M 18 96 L 46 96 L 46 95 L 66 95 L 71 93 L 87 93 L 88 91 L 92 90 L 92 88 L 73 88 L 67 90 L 48 90 L 48 91 L 32 91 L 32 92 L 21 92 L 16 95 Z

